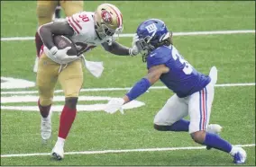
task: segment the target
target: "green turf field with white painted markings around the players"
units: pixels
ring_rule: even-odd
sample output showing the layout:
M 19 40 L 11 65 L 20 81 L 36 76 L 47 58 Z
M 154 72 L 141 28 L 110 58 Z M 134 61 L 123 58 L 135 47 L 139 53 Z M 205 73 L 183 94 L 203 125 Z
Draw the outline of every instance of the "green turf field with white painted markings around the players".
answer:
M 100 3 L 85 2 L 85 10 L 94 11 Z M 255 2 L 108 3 L 122 11 L 124 34 L 134 33 L 146 19 L 160 18 L 174 32 L 173 40 L 180 53 L 198 71 L 208 74 L 211 66 L 218 68 L 210 123 L 222 125 L 221 136 L 233 145 L 245 145 L 245 165 L 255 165 L 255 32 L 175 36 L 175 32 L 255 30 Z M 32 37 L 37 28 L 35 8 L 36 2 L 2 1 L 1 38 Z M 130 46 L 132 38 L 118 41 Z M 36 88 L 3 87 L 6 78 L 2 77 L 35 82 L 34 46 L 33 40 L 1 40 L 1 165 L 233 165 L 230 155 L 201 148 L 187 133 L 153 129 L 154 115 L 173 94 L 167 89 L 146 92 L 137 99 L 140 105 L 124 110 L 124 115 L 101 110 L 109 98 L 123 96 L 125 87 L 133 86 L 147 73 L 142 57 L 117 57 L 102 48 L 89 52 L 87 59 L 103 61 L 105 71 L 97 79 L 84 70 L 84 90 L 78 102 L 83 110 L 78 112 L 69 134 L 64 160 L 53 161 L 48 154 L 58 136 L 59 112 L 53 114 L 50 143 L 41 145 L 41 116 L 25 110 L 36 107 Z M 18 81 L 14 85 L 17 84 Z M 230 84 L 239 85 L 227 86 Z M 60 90 L 60 86 L 56 89 Z M 61 100 L 55 101 L 54 106 L 63 105 L 63 93 L 55 95 Z M 169 150 L 163 151 L 166 148 Z

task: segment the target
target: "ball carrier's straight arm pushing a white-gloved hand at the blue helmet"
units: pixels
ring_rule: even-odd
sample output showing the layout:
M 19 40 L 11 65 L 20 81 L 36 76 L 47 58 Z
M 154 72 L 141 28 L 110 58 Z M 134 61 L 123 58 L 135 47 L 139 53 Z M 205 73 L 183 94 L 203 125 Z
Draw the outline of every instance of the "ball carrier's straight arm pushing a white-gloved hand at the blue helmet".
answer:
M 135 47 L 128 48 L 115 41 L 112 42 L 112 45 L 105 42 L 102 44 L 102 46 L 106 51 L 118 56 L 135 56 L 139 53 Z

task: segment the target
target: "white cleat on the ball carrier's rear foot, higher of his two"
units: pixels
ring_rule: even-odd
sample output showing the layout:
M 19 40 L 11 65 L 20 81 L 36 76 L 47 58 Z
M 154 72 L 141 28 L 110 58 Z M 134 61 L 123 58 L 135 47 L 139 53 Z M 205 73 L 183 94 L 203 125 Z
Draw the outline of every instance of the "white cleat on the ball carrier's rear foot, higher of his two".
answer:
M 51 110 L 47 118 L 41 117 L 41 138 L 43 143 L 47 142 L 51 136 Z

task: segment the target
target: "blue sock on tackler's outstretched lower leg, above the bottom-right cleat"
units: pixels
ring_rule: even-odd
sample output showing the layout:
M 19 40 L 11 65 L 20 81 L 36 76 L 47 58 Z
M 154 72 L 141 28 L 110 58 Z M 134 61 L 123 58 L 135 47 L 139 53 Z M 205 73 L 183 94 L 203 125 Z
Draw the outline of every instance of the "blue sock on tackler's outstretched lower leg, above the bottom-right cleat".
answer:
M 214 147 L 215 149 L 226 153 L 230 153 L 232 150 L 232 145 L 230 143 L 222 139 L 220 136 L 208 132 L 206 132 L 206 138 L 203 145 Z

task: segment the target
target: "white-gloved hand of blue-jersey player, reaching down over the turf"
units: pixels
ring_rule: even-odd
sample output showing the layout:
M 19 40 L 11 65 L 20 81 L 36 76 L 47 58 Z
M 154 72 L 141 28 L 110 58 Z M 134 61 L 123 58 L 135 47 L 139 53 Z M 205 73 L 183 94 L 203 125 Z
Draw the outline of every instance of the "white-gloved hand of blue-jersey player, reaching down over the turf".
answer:
M 114 114 L 117 110 L 120 110 L 120 112 L 123 114 L 123 98 L 113 98 L 106 104 L 105 112 Z

